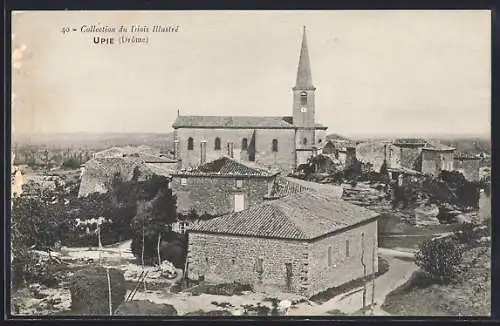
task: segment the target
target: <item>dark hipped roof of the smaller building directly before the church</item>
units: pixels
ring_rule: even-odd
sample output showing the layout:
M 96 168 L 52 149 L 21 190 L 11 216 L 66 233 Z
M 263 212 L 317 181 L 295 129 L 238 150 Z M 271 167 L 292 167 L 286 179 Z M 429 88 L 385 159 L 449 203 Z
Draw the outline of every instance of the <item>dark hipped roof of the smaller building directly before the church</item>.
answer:
M 196 169 L 175 173 L 175 175 L 192 176 L 272 176 L 273 170 L 250 167 L 227 156 L 200 165 Z

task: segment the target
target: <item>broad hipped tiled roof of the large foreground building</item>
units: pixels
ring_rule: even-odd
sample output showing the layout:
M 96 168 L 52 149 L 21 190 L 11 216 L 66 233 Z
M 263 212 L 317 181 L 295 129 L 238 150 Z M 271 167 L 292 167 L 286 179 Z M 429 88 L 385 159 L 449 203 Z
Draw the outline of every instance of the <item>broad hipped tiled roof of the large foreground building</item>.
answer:
M 306 191 L 204 221 L 191 231 L 311 240 L 376 216 L 341 199 Z

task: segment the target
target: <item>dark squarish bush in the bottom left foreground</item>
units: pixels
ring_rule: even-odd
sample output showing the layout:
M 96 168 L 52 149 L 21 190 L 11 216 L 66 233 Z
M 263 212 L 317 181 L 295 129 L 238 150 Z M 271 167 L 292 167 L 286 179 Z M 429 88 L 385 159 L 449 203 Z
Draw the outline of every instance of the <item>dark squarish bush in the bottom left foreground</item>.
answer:
M 127 288 L 123 272 L 109 269 L 112 309 L 124 300 Z M 109 315 L 109 293 L 106 269 L 88 267 L 76 272 L 70 281 L 71 310 L 82 315 Z

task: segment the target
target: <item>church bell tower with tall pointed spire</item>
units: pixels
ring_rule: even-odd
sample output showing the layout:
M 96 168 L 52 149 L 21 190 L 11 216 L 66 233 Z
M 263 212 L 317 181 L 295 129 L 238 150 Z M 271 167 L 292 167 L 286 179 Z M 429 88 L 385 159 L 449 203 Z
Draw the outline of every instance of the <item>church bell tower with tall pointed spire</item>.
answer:
M 306 27 L 302 34 L 297 80 L 293 90 L 293 124 L 296 129 L 296 148 L 312 150 L 315 139 L 314 94 L 316 87 L 312 84 L 311 64 L 307 49 Z M 306 155 L 306 153 L 304 153 Z

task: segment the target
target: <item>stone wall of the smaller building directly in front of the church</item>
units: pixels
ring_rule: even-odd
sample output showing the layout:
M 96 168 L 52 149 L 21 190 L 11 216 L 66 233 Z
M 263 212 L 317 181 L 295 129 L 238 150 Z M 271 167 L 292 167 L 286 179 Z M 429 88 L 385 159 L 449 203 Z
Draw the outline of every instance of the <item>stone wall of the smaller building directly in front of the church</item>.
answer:
M 181 184 L 186 179 L 186 185 Z M 180 177 L 172 178 L 172 191 L 188 196 L 187 200 L 177 201 L 177 210 L 187 213 L 195 208 L 198 214 L 227 214 L 234 211 L 234 194 L 245 195 L 245 206 L 260 204 L 268 191 L 271 178 L 243 178 L 241 188 L 236 187 L 237 178 L 227 177 Z M 180 197 L 180 195 L 178 195 Z

